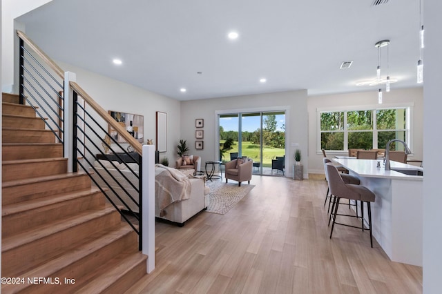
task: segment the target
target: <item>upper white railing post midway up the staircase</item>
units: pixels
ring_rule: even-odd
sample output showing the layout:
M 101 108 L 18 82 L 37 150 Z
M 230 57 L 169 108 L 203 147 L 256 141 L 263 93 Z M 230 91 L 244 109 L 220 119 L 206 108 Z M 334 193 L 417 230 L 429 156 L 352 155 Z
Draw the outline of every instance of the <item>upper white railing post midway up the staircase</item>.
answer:
M 73 130 L 73 90 L 70 90 L 69 82 L 77 81 L 77 75 L 74 72 L 64 72 L 64 157 L 68 159 L 68 173 L 72 173 L 73 170 L 73 141 L 72 141 L 72 130 Z M 61 135 L 61 134 L 60 134 Z

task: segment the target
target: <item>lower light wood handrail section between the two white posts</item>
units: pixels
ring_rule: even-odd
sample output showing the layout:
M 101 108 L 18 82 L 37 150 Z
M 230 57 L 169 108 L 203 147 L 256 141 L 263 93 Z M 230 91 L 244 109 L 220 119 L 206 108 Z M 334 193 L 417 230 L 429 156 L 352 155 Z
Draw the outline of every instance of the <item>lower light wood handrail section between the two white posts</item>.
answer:
M 97 104 L 97 102 L 94 99 L 92 99 L 92 97 L 90 97 L 88 93 L 86 93 L 86 91 L 83 90 L 83 88 L 81 88 L 77 83 L 75 83 L 74 81 L 70 81 L 69 84 L 70 87 L 73 88 L 73 90 L 75 90 L 75 92 L 77 92 L 77 94 L 81 98 L 83 98 L 84 101 L 86 101 L 89 104 L 89 106 L 91 106 L 98 113 L 100 117 L 102 117 L 102 119 L 104 119 L 109 125 L 115 128 L 115 130 L 117 130 L 119 135 L 122 135 L 122 137 L 127 141 L 127 143 L 133 146 L 133 149 L 138 154 L 142 155 L 143 149 L 139 141 L 137 141 L 134 137 L 132 137 L 131 134 L 129 134 L 126 131 L 126 129 L 124 129 L 120 124 L 118 124 L 118 121 L 116 121 L 113 117 L 111 117 L 111 115 L 109 115 L 108 112 L 102 108 L 102 106 Z

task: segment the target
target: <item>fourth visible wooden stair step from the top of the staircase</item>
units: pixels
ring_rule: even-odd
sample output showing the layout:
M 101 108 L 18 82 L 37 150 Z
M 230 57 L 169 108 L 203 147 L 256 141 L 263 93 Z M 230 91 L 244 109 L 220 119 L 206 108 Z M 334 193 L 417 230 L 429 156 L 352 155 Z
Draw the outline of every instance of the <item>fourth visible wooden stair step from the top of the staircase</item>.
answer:
M 55 143 L 52 130 L 40 128 L 2 128 L 3 143 Z

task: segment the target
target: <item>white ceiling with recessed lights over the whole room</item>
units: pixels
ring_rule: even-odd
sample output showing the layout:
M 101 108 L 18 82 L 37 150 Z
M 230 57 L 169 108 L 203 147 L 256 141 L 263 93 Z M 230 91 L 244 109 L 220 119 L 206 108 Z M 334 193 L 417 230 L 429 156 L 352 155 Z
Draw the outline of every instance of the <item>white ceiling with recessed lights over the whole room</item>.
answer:
M 372 2 L 54 0 L 18 21 L 52 59 L 178 100 L 299 89 L 377 95 L 355 84 L 376 77 L 374 44 L 383 39 L 398 79 L 392 91 L 419 86 L 419 0 Z M 385 77 L 386 48 L 381 57 Z M 354 63 L 340 70 L 343 61 Z

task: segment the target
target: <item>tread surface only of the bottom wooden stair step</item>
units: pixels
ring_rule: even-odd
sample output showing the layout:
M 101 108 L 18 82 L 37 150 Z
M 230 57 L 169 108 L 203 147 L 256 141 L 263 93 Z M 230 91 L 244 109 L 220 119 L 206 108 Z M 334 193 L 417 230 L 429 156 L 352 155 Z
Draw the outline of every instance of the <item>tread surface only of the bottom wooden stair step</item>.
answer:
M 114 259 L 103 264 L 90 276 L 87 284 L 79 288 L 77 293 L 102 293 L 111 286 L 116 277 L 122 277 L 129 273 L 141 262 L 146 262 L 147 255 L 141 252 L 120 253 Z M 146 274 L 146 273 L 144 273 Z M 80 285 L 81 286 L 81 285 Z

